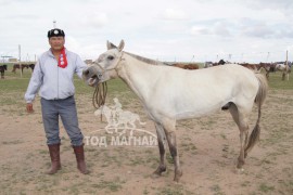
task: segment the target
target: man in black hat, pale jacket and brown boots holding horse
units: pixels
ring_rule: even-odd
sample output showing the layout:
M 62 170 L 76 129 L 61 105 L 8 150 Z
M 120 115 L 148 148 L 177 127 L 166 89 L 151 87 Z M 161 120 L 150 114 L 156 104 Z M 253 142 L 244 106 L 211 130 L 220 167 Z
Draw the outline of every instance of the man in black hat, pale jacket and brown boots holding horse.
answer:
M 84 135 L 78 127 L 73 81 L 75 73 L 81 78 L 86 64 L 77 54 L 64 48 L 65 34 L 62 29 L 49 30 L 48 39 L 51 48 L 39 57 L 25 93 L 26 109 L 28 113 L 34 112 L 33 101 L 39 90 L 43 128 L 51 157 L 51 169 L 48 173 L 54 174 L 61 169 L 60 116 L 71 138 L 77 168 L 81 173 L 87 174 L 89 171 L 85 162 Z

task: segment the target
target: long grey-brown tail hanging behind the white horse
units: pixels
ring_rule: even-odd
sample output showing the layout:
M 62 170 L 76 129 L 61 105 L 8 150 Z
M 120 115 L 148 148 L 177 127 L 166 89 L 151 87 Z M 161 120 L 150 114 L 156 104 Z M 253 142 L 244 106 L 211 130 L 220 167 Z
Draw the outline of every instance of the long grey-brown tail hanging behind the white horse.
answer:
M 267 92 L 268 92 L 267 78 L 262 74 L 255 74 L 255 76 L 259 83 L 258 91 L 254 100 L 254 102 L 256 103 L 258 107 L 258 117 L 257 117 L 256 125 L 250 135 L 249 143 L 245 147 L 245 152 L 244 152 L 245 156 L 253 148 L 256 142 L 259 140 L 259 134 L 260 134 L 259 121 L 260 121 L 260 116 L 262 116 L 262 105 L 264 104 L 265 99 L 267 96 Z

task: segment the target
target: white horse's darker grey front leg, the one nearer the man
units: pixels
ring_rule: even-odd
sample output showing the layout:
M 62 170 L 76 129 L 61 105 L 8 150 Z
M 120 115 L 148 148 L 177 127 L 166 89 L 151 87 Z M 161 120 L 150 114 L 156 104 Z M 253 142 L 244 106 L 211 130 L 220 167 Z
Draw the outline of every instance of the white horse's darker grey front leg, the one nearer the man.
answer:
M 154 174 L 161 176 L 162 172 L 166 171 L 165 146 L 164 146 L 165 132 L 161 125 L 155 123 L 155 128 L 157 134 L 157 145 L 160 151 L 160 165 L 157 169 L 154 171 Z

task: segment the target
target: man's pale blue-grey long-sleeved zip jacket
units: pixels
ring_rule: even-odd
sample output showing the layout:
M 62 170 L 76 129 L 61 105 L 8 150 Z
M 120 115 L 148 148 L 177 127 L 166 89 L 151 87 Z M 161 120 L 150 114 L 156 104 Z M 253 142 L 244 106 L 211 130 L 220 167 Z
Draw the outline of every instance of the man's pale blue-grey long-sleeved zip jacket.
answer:
M 67 67 L 58 66 L 58 60 L 51 50 L 44 52 L 38 60 L 29 80 L 25 100 L 31 103 L 39 90 L 39 95 L 46 100 L 60 100 L 74 95 L 74 74 L 82 78 L 82 70 L 87 65 L 81 58 L 68 50 L 65 51 Z

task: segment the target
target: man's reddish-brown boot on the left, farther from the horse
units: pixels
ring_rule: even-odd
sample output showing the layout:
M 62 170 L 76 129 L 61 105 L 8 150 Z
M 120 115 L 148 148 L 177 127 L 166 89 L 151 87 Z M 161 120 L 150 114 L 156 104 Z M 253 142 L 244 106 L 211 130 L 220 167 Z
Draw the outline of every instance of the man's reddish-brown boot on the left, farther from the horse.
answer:
M 48 174 L 54 174 L 58 170 L 61 169 L 61 162 L 60 162 L 60 143 L 48 145 L 50 157 L 51 157 L 51 170 L 49 170 Z

